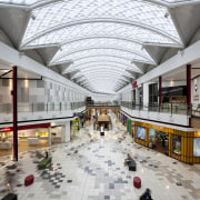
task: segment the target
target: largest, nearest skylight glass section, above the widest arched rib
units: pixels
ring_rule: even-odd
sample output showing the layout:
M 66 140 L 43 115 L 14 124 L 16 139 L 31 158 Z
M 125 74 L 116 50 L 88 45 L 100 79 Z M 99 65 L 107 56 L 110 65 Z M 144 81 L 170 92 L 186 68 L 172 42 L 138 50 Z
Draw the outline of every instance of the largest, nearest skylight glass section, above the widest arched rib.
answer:
M 164 18 L 167 8 L 136 0 L 73 0 L 59 1 L 33 10 L 36 19 L 30 19 L 24 40 L 42 34 L 61 26 L 93 21 L 97 19 L 121 20 L 144 26 L 179 40 L 170 16 Z

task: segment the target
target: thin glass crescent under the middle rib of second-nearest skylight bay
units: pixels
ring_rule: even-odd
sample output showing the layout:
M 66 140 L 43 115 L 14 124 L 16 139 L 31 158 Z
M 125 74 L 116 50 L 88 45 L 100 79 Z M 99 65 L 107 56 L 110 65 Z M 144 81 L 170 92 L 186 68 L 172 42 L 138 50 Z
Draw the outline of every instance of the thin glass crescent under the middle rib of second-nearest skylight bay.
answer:
M 64 54 L 63 57 L 61 57 L 57 60 L 53 59 L 51 62 L 52 63 L 61 63 L 61 62 L 66 62 L 68 60 L 69 61 L 72 60 L 74 62 L 76 60 L 81 59 L 81 58 L 96 57 L 96 56 L 111 56 L 111 57 L 117 57 L 117 58 L 123 58 L 123 59 L 130 60 L 130 62 L 132 60 L 138 60 L 138 61 L 147 62 L 147 63 L 151 62 L 150 60 L 146 59 L 144 57 L 133 54 L 128 51 L 116 50 L 116 49 L 83 50 L 83 51 L 74 52 L 71 54 Z

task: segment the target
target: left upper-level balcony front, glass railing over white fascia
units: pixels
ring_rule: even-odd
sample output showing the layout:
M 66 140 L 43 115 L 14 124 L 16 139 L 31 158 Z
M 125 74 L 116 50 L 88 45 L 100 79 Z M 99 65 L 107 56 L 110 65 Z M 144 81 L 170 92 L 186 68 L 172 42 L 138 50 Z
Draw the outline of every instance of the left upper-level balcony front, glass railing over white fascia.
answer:
M 86 110 L 84 102 L 18 103 L 18 121 L 47 121 L 72 118 Z M 12 123 L 12 104 L 0 104 L 0 124 Z

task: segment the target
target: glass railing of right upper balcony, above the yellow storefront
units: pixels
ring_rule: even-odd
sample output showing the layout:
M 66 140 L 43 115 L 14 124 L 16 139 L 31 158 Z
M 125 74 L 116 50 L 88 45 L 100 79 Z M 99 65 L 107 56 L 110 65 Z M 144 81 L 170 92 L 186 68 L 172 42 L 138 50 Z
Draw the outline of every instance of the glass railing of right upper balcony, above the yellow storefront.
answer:
M 131 110 L 139 110 L 139 111 L 149 111 L 149 112 L 163 112 L 169 114 L 184 114 L 191 116 L 193 113 L 193 104 L 191 108 L 188 104 L 183 103 L 151 103 L 151 104 L 134 104 L 132 102 L 121 101 L 120 103 L 122 107 L 129 108 Z

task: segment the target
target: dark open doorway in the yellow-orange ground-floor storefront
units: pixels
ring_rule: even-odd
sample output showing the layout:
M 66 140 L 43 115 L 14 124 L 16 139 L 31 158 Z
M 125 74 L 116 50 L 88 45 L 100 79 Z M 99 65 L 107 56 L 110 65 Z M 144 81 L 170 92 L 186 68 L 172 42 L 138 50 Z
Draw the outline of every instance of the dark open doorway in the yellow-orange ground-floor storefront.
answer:
M 162 131 L 157 131 L 156 150 L 161 153 L 168 153 L 168 151 L 169 151 L 169 133 L 162 132 Z

